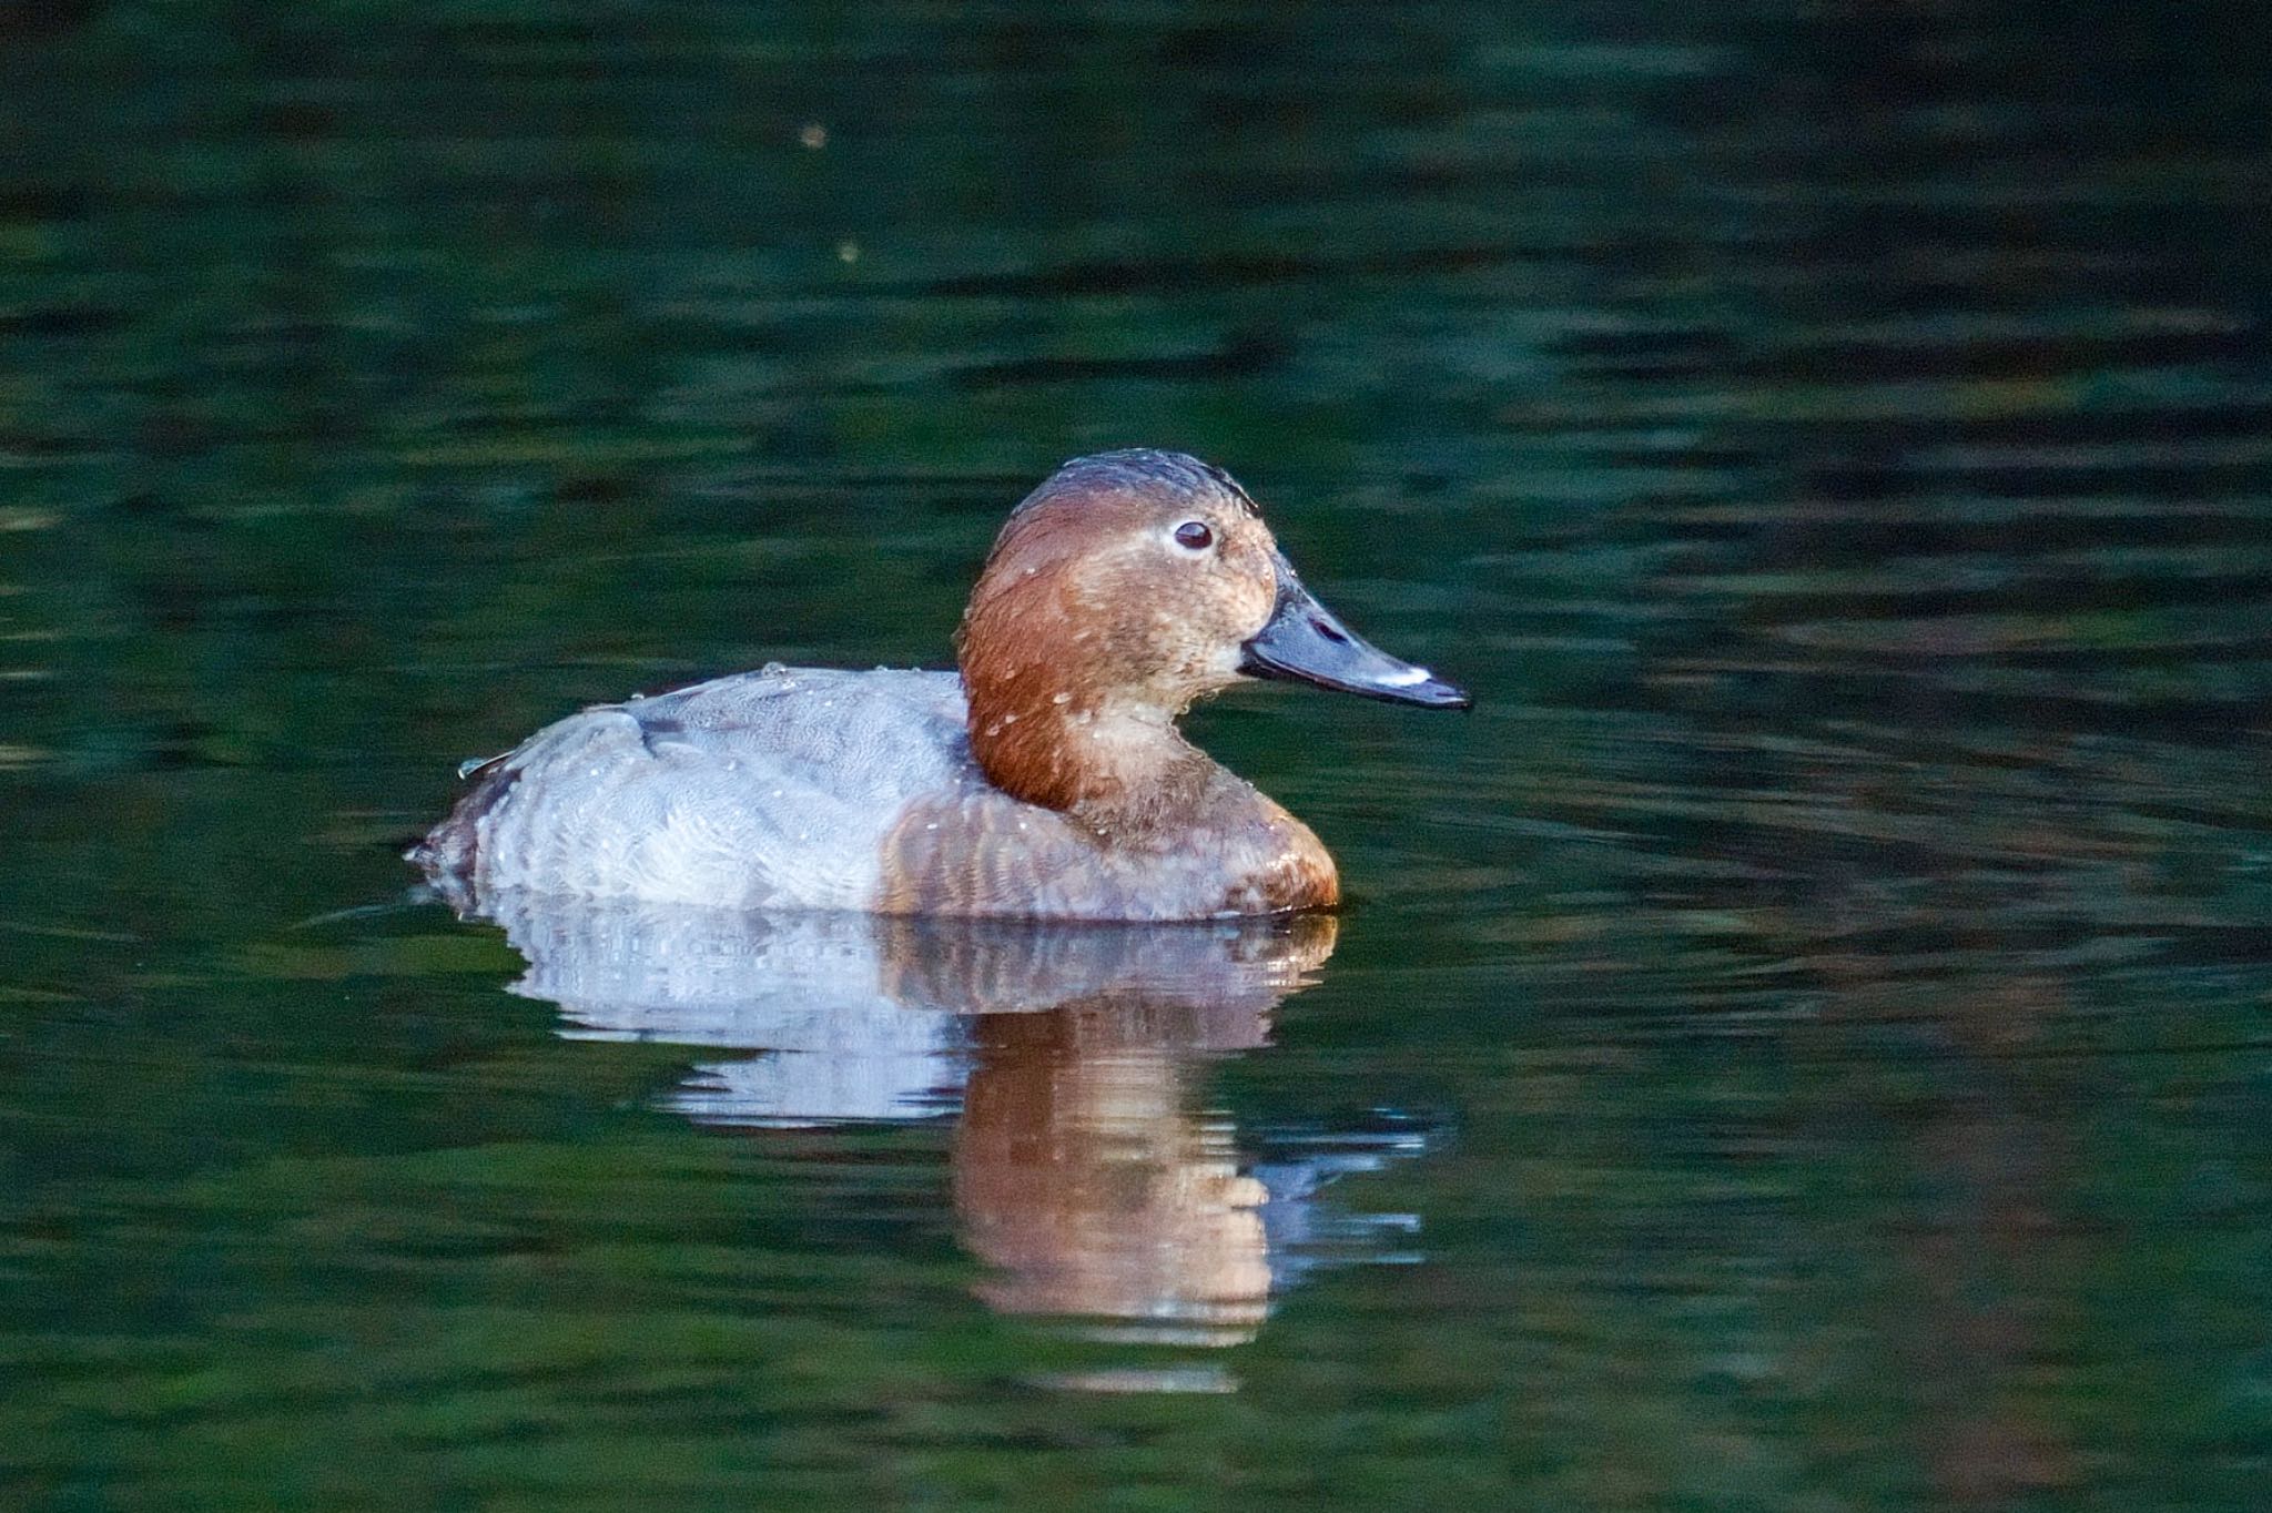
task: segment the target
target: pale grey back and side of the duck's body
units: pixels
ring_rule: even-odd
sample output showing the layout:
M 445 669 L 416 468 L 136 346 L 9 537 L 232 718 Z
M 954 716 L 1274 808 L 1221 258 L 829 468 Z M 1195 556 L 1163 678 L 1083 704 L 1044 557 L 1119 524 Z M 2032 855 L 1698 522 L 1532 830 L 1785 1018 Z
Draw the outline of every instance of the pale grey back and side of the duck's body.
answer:
M 952 672 L 768 666 L 548 725 L 414 856 L 477 893 L 868 909 L 893 822 L 984 786 Z

